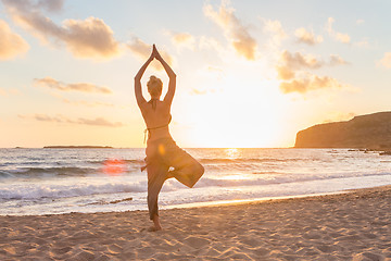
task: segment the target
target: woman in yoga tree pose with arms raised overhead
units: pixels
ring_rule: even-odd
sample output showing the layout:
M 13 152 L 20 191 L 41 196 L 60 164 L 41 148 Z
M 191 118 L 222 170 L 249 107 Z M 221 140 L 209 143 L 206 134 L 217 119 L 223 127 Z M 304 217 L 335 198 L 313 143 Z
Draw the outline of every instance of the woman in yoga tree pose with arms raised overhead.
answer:
M 147 102 L 142 96 L 140 80 L 153 59 L 161 62 L 169 77 L 168 90 L 164 99 L 160 100 L 163 83 L 160 78 L 151 76 L 147 83 L 151 100 Z M 150 219 L 154 224 L 151 227 L 152 231 L 162 229 L 157 213 L 157 196 L 165 179 L 175 177 L 186 186 L 192 187 L 204 173 L 204 167 L 190 154 L 181 150 L 169 134 L 171 104 L 175 88 L 176 75 L 161 57 L 155 45 L 153 45 L 150 58 L 135 77 L 137 104 L 147 125 L 146 132 L 148 132 L 146 163 L 148 172 L 148 209 Z M 168 171 L 169 167 L 174 167 L 174 170 Z

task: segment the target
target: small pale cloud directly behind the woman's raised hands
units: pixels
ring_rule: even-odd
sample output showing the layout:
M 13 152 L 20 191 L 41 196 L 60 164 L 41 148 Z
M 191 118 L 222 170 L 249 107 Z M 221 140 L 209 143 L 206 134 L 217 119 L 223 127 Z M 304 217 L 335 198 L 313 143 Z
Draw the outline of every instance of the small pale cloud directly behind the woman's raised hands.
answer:
M 134 37 L 128 44 L 127 47 L 129 50 L 139 57 L 141 60 L 147 60 L 152 52 L 152 45 L 148 45 L 147 42 L 142 41 L 140 38 Z M 159 49 L 159 47 L 157 47 Z M 159 52 L 164 58 L 164 60 L 172 65 L 173 58 L 165 51 L 159 49 Z M 160 63 L 152 63 L 152 66 L 156 70 L 163 70 L 163 66 Z

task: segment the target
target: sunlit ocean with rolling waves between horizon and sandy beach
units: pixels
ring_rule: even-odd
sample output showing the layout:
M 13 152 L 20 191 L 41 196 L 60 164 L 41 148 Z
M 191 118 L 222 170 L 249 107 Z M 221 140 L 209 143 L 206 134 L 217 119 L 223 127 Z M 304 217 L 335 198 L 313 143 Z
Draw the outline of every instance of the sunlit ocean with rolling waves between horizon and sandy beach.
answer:
M 161 209 L 333 194 L 391 184 L 391 156 L 349 149 L 186 149 L 205 167 L 174 178 Z M 147 210 L 144 149 L 0 149 L 0 215 Z

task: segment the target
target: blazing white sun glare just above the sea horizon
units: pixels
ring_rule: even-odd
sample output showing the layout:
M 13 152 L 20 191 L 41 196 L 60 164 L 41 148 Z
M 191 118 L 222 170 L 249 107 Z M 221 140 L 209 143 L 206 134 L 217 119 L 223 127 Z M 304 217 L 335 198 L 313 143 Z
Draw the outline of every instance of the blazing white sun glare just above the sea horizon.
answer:
M 190 147 L 273 147 L 281 135 L 283 103 L 268 80 L 240 87 L 230 78 L 222 89 L 188 103 L 185 132 Z M 201 104 L 201 105 L 200 105 Z

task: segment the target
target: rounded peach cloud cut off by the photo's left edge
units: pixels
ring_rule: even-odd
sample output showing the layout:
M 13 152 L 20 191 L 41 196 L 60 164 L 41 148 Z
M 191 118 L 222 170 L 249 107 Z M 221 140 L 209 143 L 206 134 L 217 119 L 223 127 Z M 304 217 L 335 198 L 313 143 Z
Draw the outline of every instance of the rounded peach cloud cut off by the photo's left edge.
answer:
M 0 60 L 10 60 L 27 52 L 28 44 L 17 34 L 13 33 L 10 26 L 0 20 Z

